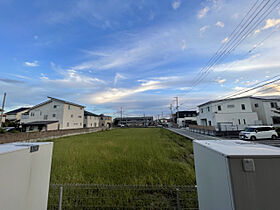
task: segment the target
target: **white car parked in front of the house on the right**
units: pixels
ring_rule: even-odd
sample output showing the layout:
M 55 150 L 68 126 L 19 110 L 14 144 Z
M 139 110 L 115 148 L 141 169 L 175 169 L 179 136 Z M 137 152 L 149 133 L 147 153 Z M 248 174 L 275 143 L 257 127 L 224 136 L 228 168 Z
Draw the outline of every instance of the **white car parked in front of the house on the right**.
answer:
M 239 133 L 239 139 L 257 140 L 257 139 L 277 139 L 278 134 L 272 126 L 250 126 Z

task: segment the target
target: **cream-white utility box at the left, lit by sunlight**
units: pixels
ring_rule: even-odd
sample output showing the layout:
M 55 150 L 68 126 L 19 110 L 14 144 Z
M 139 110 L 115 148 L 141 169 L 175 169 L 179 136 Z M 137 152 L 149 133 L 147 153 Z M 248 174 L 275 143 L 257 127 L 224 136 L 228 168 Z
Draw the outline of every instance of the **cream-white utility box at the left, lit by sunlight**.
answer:
M 0 209 L 47 209 L 52 148 L 52 142 L 0 145 Z

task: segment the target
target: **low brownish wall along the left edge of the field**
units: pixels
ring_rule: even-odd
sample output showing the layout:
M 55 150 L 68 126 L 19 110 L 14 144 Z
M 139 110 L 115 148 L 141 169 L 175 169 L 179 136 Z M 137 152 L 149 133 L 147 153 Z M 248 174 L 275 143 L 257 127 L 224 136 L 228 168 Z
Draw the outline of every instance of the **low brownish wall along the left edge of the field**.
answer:
M 82 128 L 71 130 L 56 130 L 43 132 L 28 132 L 28 133 L 4 133 L 0 134 L 0 144 L 11 143 L 17 141 L 43 141 L 55 139 L 65 136 L 74 136 L 79 134 L 94 133 L 102 130 L 108 130 L 105 127 L 101 128 Z

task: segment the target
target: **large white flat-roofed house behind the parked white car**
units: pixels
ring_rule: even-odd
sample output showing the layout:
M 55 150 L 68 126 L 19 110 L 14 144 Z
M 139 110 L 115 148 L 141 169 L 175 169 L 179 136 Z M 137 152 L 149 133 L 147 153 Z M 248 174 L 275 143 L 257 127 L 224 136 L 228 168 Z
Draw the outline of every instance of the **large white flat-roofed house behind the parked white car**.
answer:
M 227 129 L 247 125 L 271 125 L 280 122 L 280 99 L 239 97 L 209 101 L 199 107 L 198 125 Z

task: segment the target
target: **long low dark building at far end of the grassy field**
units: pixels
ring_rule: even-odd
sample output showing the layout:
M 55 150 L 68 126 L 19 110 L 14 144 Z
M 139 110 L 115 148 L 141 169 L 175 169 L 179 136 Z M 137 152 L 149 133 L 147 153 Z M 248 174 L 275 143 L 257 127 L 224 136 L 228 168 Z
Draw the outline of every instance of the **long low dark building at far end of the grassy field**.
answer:
M 114 125 L 125 125 L 128 127 L 145 127 L 153 124 L 153 117 L 123 117 L 115 118 Z

